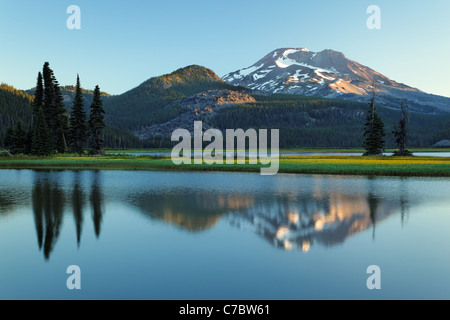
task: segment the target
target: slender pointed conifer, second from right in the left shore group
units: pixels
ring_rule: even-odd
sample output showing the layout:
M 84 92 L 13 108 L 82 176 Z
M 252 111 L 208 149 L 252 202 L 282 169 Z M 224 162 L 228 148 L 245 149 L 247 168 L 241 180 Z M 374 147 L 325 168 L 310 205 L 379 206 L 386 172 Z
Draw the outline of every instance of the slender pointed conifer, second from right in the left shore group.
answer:
M 83 144 L 87 139 L 86 112 L 81 92 L 80 77 L 77 75 L 77 87 L 70 113 L 70 145 L 73 152 L 83 153 Z

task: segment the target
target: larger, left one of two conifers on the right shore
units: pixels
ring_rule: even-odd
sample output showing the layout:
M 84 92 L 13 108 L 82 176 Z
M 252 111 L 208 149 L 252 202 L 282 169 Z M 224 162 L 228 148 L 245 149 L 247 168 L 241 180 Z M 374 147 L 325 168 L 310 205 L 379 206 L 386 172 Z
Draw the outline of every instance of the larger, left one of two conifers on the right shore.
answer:
M 375 106 L 375 92 L 369 103 L 369 110 L 367 112 L 366 123 L 364 125 L 364 148 L 366 149 L 365 156 L 378 156 L 383 154 L 384 137 L 386 132 L 384 130 L 384 123 L 378 116 Z

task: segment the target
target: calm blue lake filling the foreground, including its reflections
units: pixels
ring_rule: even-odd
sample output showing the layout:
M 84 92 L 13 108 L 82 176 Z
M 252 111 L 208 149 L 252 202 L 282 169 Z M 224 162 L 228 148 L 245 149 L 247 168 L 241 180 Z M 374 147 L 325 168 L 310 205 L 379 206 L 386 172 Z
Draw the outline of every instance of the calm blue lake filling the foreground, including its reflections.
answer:
M 0 170 L 0 299 L 450 299 L 449 182 Z

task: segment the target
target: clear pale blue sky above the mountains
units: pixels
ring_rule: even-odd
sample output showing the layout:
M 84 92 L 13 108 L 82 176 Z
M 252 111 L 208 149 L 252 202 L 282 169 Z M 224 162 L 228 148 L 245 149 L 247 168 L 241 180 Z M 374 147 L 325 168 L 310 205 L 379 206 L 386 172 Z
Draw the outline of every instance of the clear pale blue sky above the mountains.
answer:
M 81 30 L 69 30 L 69 5 Z M 366 9 L 381 8 L 381 30 Z M 49 61 L 63 85 L 120 94 L 190 64 L 219 76 L 280 47 L 334 49 L 393 80 L 450 97 L 450 1 L 0 0 L 0 82 L 35 85 Z

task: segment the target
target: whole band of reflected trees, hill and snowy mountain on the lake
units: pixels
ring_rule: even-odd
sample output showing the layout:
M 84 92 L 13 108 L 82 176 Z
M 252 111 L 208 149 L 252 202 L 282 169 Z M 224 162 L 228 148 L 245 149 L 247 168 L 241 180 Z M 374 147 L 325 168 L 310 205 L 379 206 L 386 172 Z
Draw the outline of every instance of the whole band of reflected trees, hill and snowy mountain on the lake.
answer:
M 277 248 L 304 252 L 314 245 L 343 243 L 364 230 L 370 230 L 375 240 L 377 224 L 399 213 L 403 226 L 412 204 L 407 178 L 398 179 L 395 196 L 387 197 L 380 194 L 380 178 L 346 183 L 339 177 L 308 176 L 296 178 L 297 189 L 283 183 L 281 189 L 274 184 L 257 190 L 242 186 L 227 189 L 211 183 L 208 190 L 180 187 L 177 182 L 160 187 L 158 181 L 134 187 L 133 183 L 103 186 L 103 175 L 98 171 L 33 172 L 31 207 L 37 244 L 45 259 L 54 250 L 66 215 L 73 218 L 78 247 L 86 210 L 90 210 L 95 236 L 100 238 L 108 201 L 132 206 L 132 211 L 192 233 L 211 229 L 223 219 Z M 22 199 L 16 195 L 23 190 L 19 191 L 0 186 L 0 217 L 19 206 L 15 199 Z

